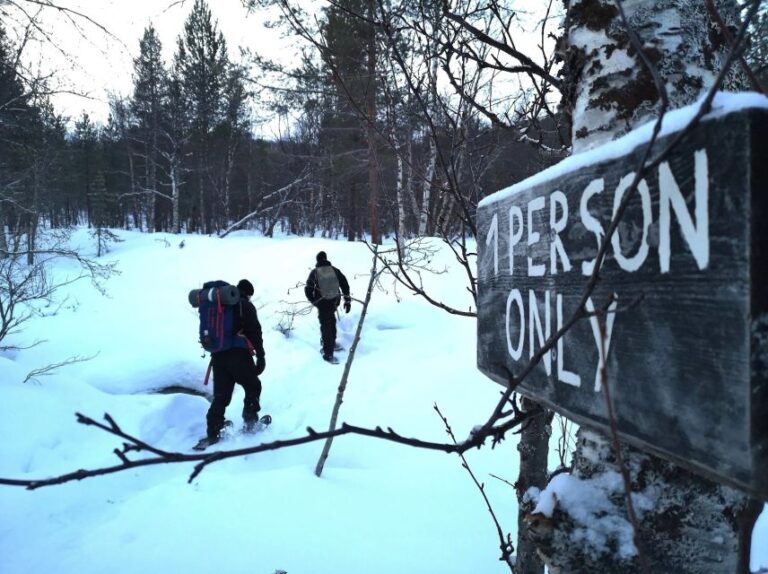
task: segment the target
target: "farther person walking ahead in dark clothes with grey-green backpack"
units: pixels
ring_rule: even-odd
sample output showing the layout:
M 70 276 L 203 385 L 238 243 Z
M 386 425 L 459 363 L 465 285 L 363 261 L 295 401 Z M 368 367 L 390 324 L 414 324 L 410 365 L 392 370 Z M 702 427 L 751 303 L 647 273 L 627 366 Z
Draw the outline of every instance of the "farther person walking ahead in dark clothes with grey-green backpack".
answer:
M 315 258 L 317 263 L 307 278 L 304 295 L 317 307 L 320 320 L 320 336 L 323 341 L 323 359 L 335 363 L 333 352 L 336 349 L 336 309 L 344 296 L 344 311 L 349 313 L 352 299 L 349 296 L 349 283 L 344 274 L 328 261 L 325 251 Z

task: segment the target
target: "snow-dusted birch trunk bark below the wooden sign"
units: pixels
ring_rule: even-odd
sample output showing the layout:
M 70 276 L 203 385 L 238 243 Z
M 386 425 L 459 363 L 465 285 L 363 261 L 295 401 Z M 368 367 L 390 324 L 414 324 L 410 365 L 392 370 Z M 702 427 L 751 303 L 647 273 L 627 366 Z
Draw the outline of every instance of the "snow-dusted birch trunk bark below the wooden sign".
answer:
M 739 571 L 737 516 L 745 502 L 742 494 L 637 449 L 623 447 L 622 458 L 631 470 L 641 551 L 650 572 Z M 578 515 L 572 515 L 556 502 L 551 518 L 529 518 L 539 553 L 550 572 L 643 572 L 638 555 L 631 552 L 625 492 L 607 437 L 584 427 L 579 430 L 572 476 L 584 481 L 579 484 L 585 493 L 597 489 L 585 496 L 608 492 L 608 500 L 599 513 L 581 509 Z M 607 487 L 611 482 L 612 487 Z M 574 537 L 582 543 L 574 544 Z

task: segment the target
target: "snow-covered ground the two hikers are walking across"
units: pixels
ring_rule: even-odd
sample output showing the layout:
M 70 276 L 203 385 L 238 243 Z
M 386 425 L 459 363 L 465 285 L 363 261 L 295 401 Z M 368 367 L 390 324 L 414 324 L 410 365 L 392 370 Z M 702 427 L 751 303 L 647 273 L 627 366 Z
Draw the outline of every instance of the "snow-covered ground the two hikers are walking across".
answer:
M 262 412 L 274 418 L 256 437 L 235 436 L 221 449 L 302 436 L 327 427 L 340 365 L 319 354 L 314 312 L 278 329 L 286 311 L 306 307 L 302 283 L 325 250 L 362 299 L 371 257 L 361 243 L 267 239 L 240 233 L 216 238 L 119 233 L 105 260 L 119 275 L 107 295 L 80 281 L 59 292 L 61 308 L 35 318 L 5 343 L 44 343 L 0 355 L 0 477 L 46 478 L 118 463 L 121 442 L 77 424 L 75 412 L 109 413 L 129 434 L 171 451 L 191 452 L 205 429 L 205 398 L 157 394 L 168 385 L 204 390 L 207 358 L 197 343 L 197 315 L 187 303 L 204 281 L 249 279 L 264 330 L 267 369 Z M 76 236 L 94 251 L 84 232 Z M 448 252 L 433 265 L 451 266 Z M 62 265 L 57 273 L 71 270 Z M 468 308 L 465 276 L 451 267 L 429 278 L 433 293 Z M 475 322 L 440 311 L 384 281 L 374 292 L 340 420 L 392 427 L 406 436 L 446 441 L 437 404 L 460 439 L 484 422 L 500 387 L 475 368 Z M 342 315 L 339 341 L 349 347 L 360 314 Z M 22 384 L 31 370 L 72 356 L 87 362 Z M 237 387 L 228 418 L 240 423 Z M 505 531 L 516 537 L 512 436 L 495 450 L 469 453 Z M 554 448 L 553 441 L 553 448 Z M 227 572 L 367 574 L 507 572 L 495 526 L 456 456 L 344 436 L 334 441 L 322 478 L 314 475 L 322 443 L 231 459 L 207 467 L 191 484 L 192 464 L 134 469 L 26 491 L 0 486 L 0 572 L 110 574 Z M 552 461 L 555 461 L 553 453 Z M 768 516 L 753 539 L 753 569 L 768 567 Z

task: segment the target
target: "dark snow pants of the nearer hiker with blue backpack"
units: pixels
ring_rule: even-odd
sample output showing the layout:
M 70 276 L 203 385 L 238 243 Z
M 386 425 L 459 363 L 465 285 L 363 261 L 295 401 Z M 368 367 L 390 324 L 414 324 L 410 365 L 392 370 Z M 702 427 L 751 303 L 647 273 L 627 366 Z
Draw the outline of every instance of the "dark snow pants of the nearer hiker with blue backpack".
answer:
M 259 420 L 261 381 L 256 375 L 256 364 L 246 349 L 234 348 L 212 355 L 213 402 L 206 417 L 208 438 L 218 437 L 224 428 L 224 412 L 232 400 L 235 383 L 243 387 L 243 422 L 248 425 Z

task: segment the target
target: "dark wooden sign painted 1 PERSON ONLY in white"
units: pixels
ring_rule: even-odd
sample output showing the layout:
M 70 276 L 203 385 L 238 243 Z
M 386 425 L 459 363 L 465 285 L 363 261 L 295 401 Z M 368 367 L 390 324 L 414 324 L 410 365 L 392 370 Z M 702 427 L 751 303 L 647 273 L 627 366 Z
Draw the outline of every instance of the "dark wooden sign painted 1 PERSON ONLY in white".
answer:
M 506 384 L 576 311 L 643 149 L 481 202 L 483 373 Z M 768 499 L 768 110 L 702 122 L 640 182 L 586 308 L 604 329 L 578 321 L 519 392 L 607 431 L 605 361 L 623 440 Z

